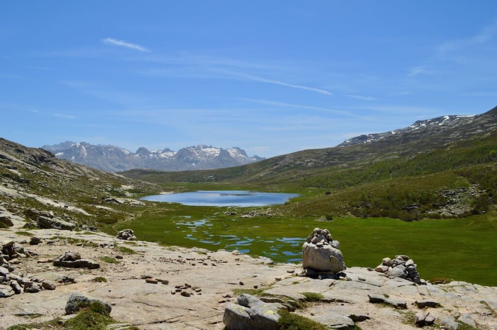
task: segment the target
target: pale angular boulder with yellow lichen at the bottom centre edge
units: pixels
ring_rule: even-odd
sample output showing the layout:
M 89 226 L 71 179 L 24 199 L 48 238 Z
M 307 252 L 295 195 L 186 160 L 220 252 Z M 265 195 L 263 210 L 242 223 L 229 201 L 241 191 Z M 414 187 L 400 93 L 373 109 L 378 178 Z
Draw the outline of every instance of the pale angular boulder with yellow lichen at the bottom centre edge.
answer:
M 241 294 L 237 304 L 226 306 L 223 322 L 227 330 L 277 330 L 278 311 L 284 308 L 280 303 L 266 303 L 254 296 Z

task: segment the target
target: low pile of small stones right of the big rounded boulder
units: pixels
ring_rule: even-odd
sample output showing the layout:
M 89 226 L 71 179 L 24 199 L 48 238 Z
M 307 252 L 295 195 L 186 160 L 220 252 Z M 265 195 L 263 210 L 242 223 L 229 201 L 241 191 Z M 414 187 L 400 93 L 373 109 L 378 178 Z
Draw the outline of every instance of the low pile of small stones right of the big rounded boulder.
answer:
M 426 284 L 424 279 L 419 278 L 419 272 L 416 267 L 417 265 L 414 264 L 411 258 L 405 255 L 398 255 L 395 256 L 395 259 L 383 258 L 381 264 L 375 270 L 390 277 L 407 279 L 416 284 Z

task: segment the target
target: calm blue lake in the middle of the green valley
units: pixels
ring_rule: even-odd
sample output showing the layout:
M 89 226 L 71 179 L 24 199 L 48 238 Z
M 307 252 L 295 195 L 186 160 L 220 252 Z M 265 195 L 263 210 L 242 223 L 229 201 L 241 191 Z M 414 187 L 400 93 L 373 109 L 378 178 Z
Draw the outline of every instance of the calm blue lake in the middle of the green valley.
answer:
M 167 201 L 191 206 L 266 206 L 284 204 L 297 194 L 260 193 L 244 190 L 197 191 L 190 193 L 152 195 L 142 200 Z

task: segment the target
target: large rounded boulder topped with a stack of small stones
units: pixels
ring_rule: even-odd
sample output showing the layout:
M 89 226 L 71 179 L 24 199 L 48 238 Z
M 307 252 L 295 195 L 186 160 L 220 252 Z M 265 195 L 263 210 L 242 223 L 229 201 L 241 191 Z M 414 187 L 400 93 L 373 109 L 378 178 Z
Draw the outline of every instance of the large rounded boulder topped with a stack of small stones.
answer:
M 333 241 L 328 229 L 315 228 L 302 246 L 302 266 L 306 274 L 318 278 L 340 277 L 346 266 L 339 247 L 340 243 Z

